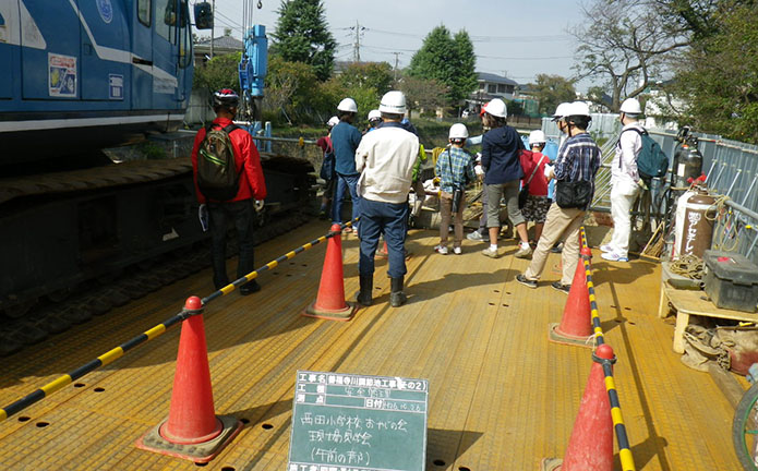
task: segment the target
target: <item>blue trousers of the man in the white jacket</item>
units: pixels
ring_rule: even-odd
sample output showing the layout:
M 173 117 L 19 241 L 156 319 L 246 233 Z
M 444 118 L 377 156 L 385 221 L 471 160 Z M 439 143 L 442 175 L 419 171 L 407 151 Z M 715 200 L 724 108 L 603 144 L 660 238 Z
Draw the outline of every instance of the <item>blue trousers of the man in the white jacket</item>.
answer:
M 406 269 L 405 239 L 408 230 L 408 203 L 380 203 L 361 200 L 361 225 L 358 237 L 361 240 L 361 255 L 358 271 L 361 276 L 374 274 L 374 255 L 380 234 L 387 242 L 390 278 L 399 278 Z

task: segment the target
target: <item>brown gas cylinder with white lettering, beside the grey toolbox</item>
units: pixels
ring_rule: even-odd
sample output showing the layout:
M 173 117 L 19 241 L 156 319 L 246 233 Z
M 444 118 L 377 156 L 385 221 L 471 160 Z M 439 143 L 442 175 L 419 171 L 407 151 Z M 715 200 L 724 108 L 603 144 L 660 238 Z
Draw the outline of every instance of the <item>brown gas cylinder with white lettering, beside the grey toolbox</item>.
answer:
M 676 230 L 672 259 L 682 255 L 702 258 L 711 247 L 715 198 L 702 189 L 694 189 L 679 196 L 676 203 Z

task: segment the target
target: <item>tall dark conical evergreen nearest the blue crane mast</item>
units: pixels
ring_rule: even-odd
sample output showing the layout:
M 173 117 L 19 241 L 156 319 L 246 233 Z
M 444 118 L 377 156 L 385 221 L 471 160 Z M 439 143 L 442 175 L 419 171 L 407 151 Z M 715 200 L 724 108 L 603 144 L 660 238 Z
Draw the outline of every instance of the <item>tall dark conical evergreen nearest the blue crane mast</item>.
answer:
M 281 0 L 279 20 L 272 34 L 272 53 L 289 62 L 313 67 L 321 81 L 332 75 L 337 48 L 321 0 Z

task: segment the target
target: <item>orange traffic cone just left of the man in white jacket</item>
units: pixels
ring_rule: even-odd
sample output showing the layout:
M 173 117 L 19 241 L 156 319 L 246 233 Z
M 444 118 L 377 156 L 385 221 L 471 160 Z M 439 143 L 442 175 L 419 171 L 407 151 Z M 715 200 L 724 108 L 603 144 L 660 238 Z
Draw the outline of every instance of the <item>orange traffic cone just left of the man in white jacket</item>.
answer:
M 339 225 L 332 226 L 333 232 L 339 232 Z M 354 311 L 354 305 L 345 302 L 342 240 L 339 237 L 333 237 L 326 246 L 318 295 L 315 302 L 305 309 L 303 315 L 329 321 L 350 321 Z

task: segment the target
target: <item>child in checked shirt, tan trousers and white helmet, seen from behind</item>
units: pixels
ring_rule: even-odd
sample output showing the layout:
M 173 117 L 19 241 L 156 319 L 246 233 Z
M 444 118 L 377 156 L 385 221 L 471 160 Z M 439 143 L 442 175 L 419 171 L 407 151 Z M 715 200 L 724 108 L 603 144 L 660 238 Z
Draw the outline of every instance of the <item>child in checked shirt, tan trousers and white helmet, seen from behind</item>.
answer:
M 441 221 L 440 244 L 434 247 L 434 251 L 442 255 L 447 254 L 447 229 L 450 226 L 450 217 L 454 220 L 453 253 L 461 254 L 464 209 L 466 208 L 464 190 L 468 182 L 477 178 L 473 171 L 473 157 L 464 150 L 468 136 L 466 124 L 453 124 L 448 133 L 450 145 L 446 152 L 440 154 L 435 165 L 436 174 L 440 176 Z

